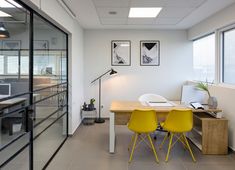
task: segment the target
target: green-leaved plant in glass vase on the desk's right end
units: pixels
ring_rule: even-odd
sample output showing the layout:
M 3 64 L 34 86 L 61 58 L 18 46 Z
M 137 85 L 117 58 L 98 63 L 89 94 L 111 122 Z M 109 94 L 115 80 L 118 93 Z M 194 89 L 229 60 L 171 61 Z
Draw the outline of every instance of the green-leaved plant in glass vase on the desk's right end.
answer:
M 209 89 L 208 89 L 208 83 L 199 82 L 199 83 L 197 83 L 196 88 L 197 88 L 198 90 L 202 90 L 202 91 L 207 92 L 207 94 L 208 94 L 208 106 L 209 106 L 209 108 L 210 108 L 210 109 L 216 109 L 216 108 L 217 108 L 217 105 L 218 105 L 218 102 L 217 102 L 216 97 L 211 96 L 210 91 L 209 91 Z

